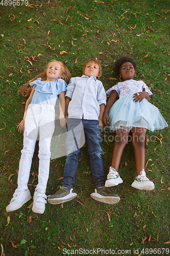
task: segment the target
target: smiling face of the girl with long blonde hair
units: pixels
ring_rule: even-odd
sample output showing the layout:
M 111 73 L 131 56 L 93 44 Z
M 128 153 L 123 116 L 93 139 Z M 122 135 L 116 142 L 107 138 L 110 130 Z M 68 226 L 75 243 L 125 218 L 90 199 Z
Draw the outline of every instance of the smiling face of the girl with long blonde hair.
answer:
M 46 76 L 46 81 L 55 81 L 61 78 L 61 66 L 57 61 L 52 61 L 48 64 Z

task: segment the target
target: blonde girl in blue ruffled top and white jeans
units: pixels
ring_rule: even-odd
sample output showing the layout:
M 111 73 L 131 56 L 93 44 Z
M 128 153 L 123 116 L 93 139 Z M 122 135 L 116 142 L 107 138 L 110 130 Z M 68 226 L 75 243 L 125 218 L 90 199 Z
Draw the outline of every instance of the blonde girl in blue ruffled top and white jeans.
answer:
M 46 204 L 46 184 L 50 168 L 50 144 L 55 127 L 55 104 L 59 96 L 60 125 L 65 126 L 65 91 L 70 79 L 66 66 L 57 60 L 51 60 L 46 69 L 18 91 L 23 96 L 29 96 L 26 102 L 25 114 L 17 126 L 18 132 L 23 133 L 23 149 L 18 170 L 18 187 L 15 189 L 10 204 L 6 207 L 8 212 L 19 209 L 28 202 L 32 196 L 28 189 L 28 181 L 35 143 L 39 134 L 39 168 L 38 184 L 33 196 L 32 210 L 43 214 Z

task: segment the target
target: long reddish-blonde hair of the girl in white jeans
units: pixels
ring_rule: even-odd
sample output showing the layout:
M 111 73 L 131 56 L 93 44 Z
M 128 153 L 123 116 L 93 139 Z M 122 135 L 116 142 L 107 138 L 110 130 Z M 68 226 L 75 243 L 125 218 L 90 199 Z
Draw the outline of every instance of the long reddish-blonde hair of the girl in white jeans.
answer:
M 48 66 L 50 65 L 51 62 L 56 61 L 57 63 L 60 64 L 61 66 L 61 78 L 65 81 L 68 82 L 69 79 L 71 78 L 71 74 L 69 73 L 69 70 L 67 69 L 67 67 L 64 65 L 63 62 L 58 61 L 56 59 L 52 59 L 48 65 L 46 66 L 46 68 L 44 69 L 44 71 L 42 73 L 40 73 L 39 75 L 36 75 L 32 80 L 30 80 L 29 82 L 26 82 L 25 84 L 23 84 L 23 86 L 21 86 L 18 89 L 18 93 L 21 93 L 22 96 L 24 97 L 29 97 L 30 93 L 31 93 L 31 86 L 30 86 L 30 82 L 33 82 L 35 80 L 37 80 L 37 78 L 41 77 L 42 81 L 45 81 L 47 79 L 46 76 L 46 70 L 48 68 Z

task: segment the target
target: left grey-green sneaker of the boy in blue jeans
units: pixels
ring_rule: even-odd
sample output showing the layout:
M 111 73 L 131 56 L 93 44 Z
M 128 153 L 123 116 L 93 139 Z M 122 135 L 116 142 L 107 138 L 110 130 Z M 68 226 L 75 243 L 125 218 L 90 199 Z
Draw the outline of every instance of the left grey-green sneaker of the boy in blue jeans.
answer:
M 73 188 L 59 186 L 57 188 L 57 192 L 54 195 L 48 197 L 47 200 L 48 200 L 48 203 L 50 204 L 61 204 L 61 203 L 68 202 L 74 199 L 75 197 L 77 197 L 77 194 L 75 193 Z

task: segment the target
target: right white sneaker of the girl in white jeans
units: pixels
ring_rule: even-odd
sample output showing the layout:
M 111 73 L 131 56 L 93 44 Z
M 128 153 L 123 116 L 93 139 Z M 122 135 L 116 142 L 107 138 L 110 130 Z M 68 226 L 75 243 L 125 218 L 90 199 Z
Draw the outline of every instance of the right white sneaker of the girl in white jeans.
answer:
M 43 214 L 45 210 L 47 196 L 45 195 L 45 190 L 43 189 L 35 189 L 33 196 L 33 207 L 32 211 L 36 214 Z

